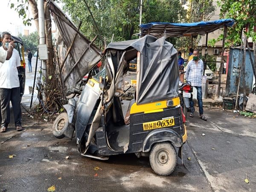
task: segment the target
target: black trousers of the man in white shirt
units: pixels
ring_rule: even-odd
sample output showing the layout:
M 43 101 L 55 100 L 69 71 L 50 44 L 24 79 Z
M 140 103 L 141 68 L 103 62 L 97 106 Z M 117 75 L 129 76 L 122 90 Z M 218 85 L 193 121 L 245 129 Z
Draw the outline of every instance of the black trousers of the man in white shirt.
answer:
M 15 127 L 21 126 L 20 87 L 12 89 L 0 88 L 1 126 L 7 128 L 10 123 L 10 101 L 12 102 Z

